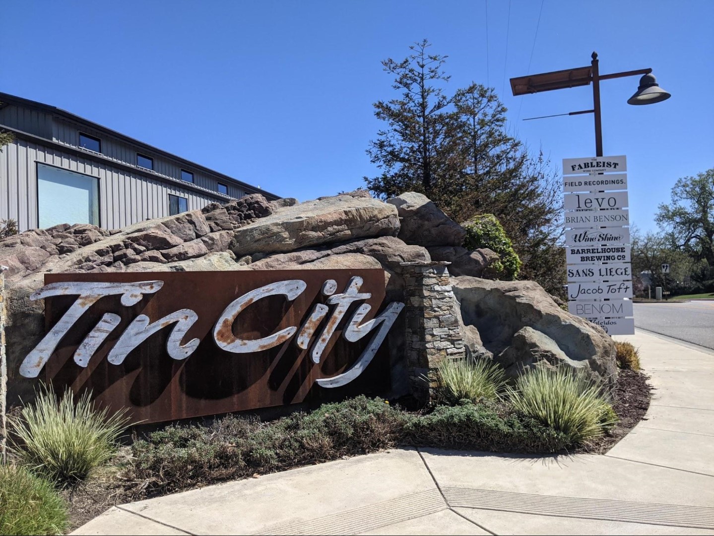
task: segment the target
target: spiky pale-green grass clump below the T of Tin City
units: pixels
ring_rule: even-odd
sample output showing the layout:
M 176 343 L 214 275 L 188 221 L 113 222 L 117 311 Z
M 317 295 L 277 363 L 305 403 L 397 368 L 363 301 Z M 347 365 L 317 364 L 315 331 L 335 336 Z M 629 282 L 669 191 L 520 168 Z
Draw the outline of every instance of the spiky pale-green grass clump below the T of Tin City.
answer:
M 9 423 L 21 463 L 66 487 L 86 480 L 114 455 L 127 419 L 125 412 L 109 415 L 106 408 L 96 410 L 89 392 L 75 403 L 69 389 L 61 398 L 46 389 Z

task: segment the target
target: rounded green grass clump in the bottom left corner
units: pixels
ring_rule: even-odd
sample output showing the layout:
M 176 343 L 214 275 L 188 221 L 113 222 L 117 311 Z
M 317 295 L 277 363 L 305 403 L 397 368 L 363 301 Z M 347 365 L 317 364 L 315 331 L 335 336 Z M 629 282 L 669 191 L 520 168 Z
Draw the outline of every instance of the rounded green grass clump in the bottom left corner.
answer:
M 0 465 L 0 535 L 54 535 L 66 529 L 66 503 L 50 482 L 24 467 Z

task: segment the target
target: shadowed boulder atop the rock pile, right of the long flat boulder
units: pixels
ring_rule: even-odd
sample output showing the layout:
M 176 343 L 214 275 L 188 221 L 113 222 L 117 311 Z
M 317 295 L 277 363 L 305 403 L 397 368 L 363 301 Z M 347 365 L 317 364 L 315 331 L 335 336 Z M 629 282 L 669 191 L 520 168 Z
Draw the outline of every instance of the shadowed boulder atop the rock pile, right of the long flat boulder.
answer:
M 428 197 L 406 192 L 387 200 L 401 218 L 398 237 L 418 246 L 461 246 L 466 231 L 452 221 Z

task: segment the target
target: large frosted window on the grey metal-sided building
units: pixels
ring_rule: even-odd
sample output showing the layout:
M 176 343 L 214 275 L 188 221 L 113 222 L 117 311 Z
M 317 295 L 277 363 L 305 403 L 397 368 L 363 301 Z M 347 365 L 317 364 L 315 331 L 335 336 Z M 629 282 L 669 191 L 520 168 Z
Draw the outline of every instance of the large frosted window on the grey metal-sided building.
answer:
M 99 179 L 37 164 L 38 227 L 58 223 L 99 225 Z

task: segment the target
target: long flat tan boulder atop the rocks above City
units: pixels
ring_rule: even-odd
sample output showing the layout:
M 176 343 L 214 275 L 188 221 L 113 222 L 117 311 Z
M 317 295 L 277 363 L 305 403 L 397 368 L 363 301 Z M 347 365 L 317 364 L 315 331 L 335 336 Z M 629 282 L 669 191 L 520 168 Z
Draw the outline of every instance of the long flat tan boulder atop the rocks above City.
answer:
M 231 250 L 236 256 L 253 253 L 288 253 L 303 248 L 396 236 L 396 208 L 377 199 L 334 196 L 277 208 L 236 230 Z

